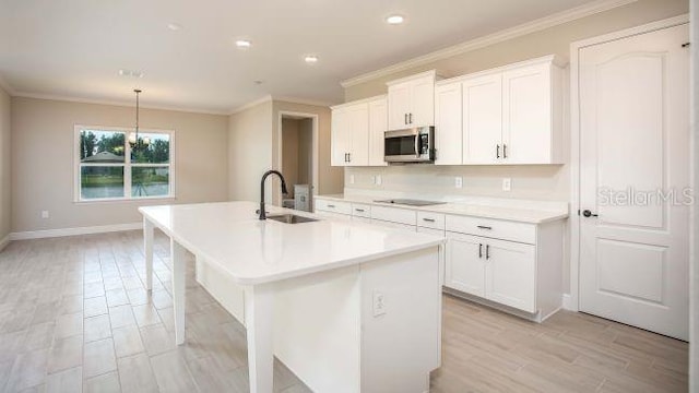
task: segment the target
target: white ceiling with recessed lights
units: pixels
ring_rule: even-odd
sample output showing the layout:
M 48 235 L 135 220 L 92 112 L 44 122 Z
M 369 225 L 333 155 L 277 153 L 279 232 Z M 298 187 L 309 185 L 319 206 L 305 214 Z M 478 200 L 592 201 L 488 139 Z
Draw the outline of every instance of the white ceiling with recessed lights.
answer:
M 0 0 L 0 76 L 17 95 L 130 103 L 138 86 L 144 106 L 223 114 L 268 95 L 341 103 L 342 80 L 591 2 Z

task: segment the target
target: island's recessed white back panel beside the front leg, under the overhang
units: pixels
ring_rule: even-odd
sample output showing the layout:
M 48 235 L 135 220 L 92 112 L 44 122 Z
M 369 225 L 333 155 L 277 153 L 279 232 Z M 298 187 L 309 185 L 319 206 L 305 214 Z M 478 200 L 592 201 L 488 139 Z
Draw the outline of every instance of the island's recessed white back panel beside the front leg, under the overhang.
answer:
M 275 283 L 274 355 L 313 392 L 360 391 L 359 266 Z

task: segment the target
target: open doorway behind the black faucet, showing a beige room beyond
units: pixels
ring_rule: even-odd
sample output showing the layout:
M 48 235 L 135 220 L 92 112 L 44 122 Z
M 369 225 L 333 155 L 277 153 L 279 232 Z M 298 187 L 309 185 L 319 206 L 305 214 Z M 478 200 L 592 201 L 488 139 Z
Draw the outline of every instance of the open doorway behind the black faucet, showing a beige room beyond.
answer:
M 318 182 L 318 116 L 280 112 L 279 124 L 279 168 L 288 189 L 288 194 L 281 195 L 281 205 L 312 212 L 312 195 Z

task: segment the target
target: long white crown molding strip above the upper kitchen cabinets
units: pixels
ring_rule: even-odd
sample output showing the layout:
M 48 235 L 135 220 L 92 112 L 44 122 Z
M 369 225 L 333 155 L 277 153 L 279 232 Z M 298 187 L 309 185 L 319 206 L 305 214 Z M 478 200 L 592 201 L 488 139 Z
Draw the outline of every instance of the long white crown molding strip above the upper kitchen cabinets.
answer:
M 472 50 L 481 49 L 490 45 L 499 44 L 509 39 L 521 37 L 531 33 L 536 33 L 549 27 L 558 26 L 564 23 L 572 22 L 585 16 L 605 12 L 618 7 L 633 3 L 638 0 L 599 0 L 589 4 L 576 7 L 570 10 L 561 11 L 548 16 L 544 16 L 532 22 L 510 27 L 497 33 L 488 34 L 483 37 L 467 40 L 451 47 L 439 49 L 430 53 L 416 57 L 406 61 L 384 67 L 382 69 L 367 72 L 348 80 L 340 82 L 342 87 L 351 87 L 360 83 L 369 82 L 382 76 L 387 76 L 400 71 L 405 71 L 419 66 L 425 66 L 438 60 L 447 59 L 457 55 L 462 55 Z

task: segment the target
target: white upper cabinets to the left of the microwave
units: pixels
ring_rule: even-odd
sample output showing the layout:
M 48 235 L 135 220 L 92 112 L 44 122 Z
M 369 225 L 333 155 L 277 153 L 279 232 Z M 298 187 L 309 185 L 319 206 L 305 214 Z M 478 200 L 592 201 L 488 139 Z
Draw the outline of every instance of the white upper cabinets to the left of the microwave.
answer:
M 387 130 L 386 96 L 332 108 L 331 165 L 381 166 Z

